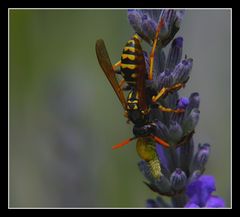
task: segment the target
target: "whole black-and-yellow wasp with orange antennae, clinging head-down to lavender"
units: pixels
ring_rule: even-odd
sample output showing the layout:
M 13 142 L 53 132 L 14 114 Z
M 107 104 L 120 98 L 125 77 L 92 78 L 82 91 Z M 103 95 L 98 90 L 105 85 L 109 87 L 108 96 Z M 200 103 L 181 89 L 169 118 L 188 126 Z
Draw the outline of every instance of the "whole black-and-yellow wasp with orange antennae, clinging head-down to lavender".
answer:
M 159 93 L 155 91 L 154 94 L 149 93 L 146 94 L 147 90 L 145 87 L 146 79 L 147 78 L 150 80 L 152 79 L 154 61 L 153 57 L 156 49 L 156 44 L 158 41 L 158 36 L 162 26 L 163 20 L 161 19 L 157 27 L 156 36 L 152 46 L 152 52 L 150 54 L 149 73 L 147 72 L 146 69 L 144 52 L 140 44 L 141 38 L 137 33 L 134 34 L 132 39 L 127 42 L 126 46 L 123 49 L 121 60 L 114 66 L 112 66 L 111 64 L 104 41 L 100 39 L 97 40 L 96 42 L 96 54 L 98 62 L 102 67 L 109 82 L 111 83 L 120 102 L 122 103 L 122 106 L 125 111 L 125 116 L 128 118 L 128 120 L 132 121 L 132 123 L 134 124 L 133 127 L 134 137 L 118 144 L 117 146 L 114 146 L 114 148 L 121 147 L 135 138 L 146 136 L 150 136 L 152 137 L 152 139 L 162 144 L 163 146 L 169 147 L 169 144 L 167 144 L 165 141 L 154 136 L 156 124 L 149 122 L 148 118 L 150 111 L 149 106 L 152 103 L 156 104 L 156 101 L 160 97 L 165 96 L 168 92 L 176 89 L 176 85 L 170 88 L 162 88 L 159 91 Z M 116 70 L 117 66 L 120 67 L 120 71 Z M 117 73 L 121 73 L 124 78 L 120 83 L 118 83 L 118 80 L 116 78 Z M 130 90 L 127 100 L 125 99 L 124 93 L 121 88 L 124 82 L 128 84 Z M 177 86 L 177 88 L 179 87 Z M 150 100 L 147 99 L 146 95 L 148 96 L 148 98 L 150 98 Z M 159 109 L 165 112 L 176 113 L 183 112 L 183 110 L 181 109 L 174 110 L 170 108 L 165 108 L 161 105 L 159 105 Z

